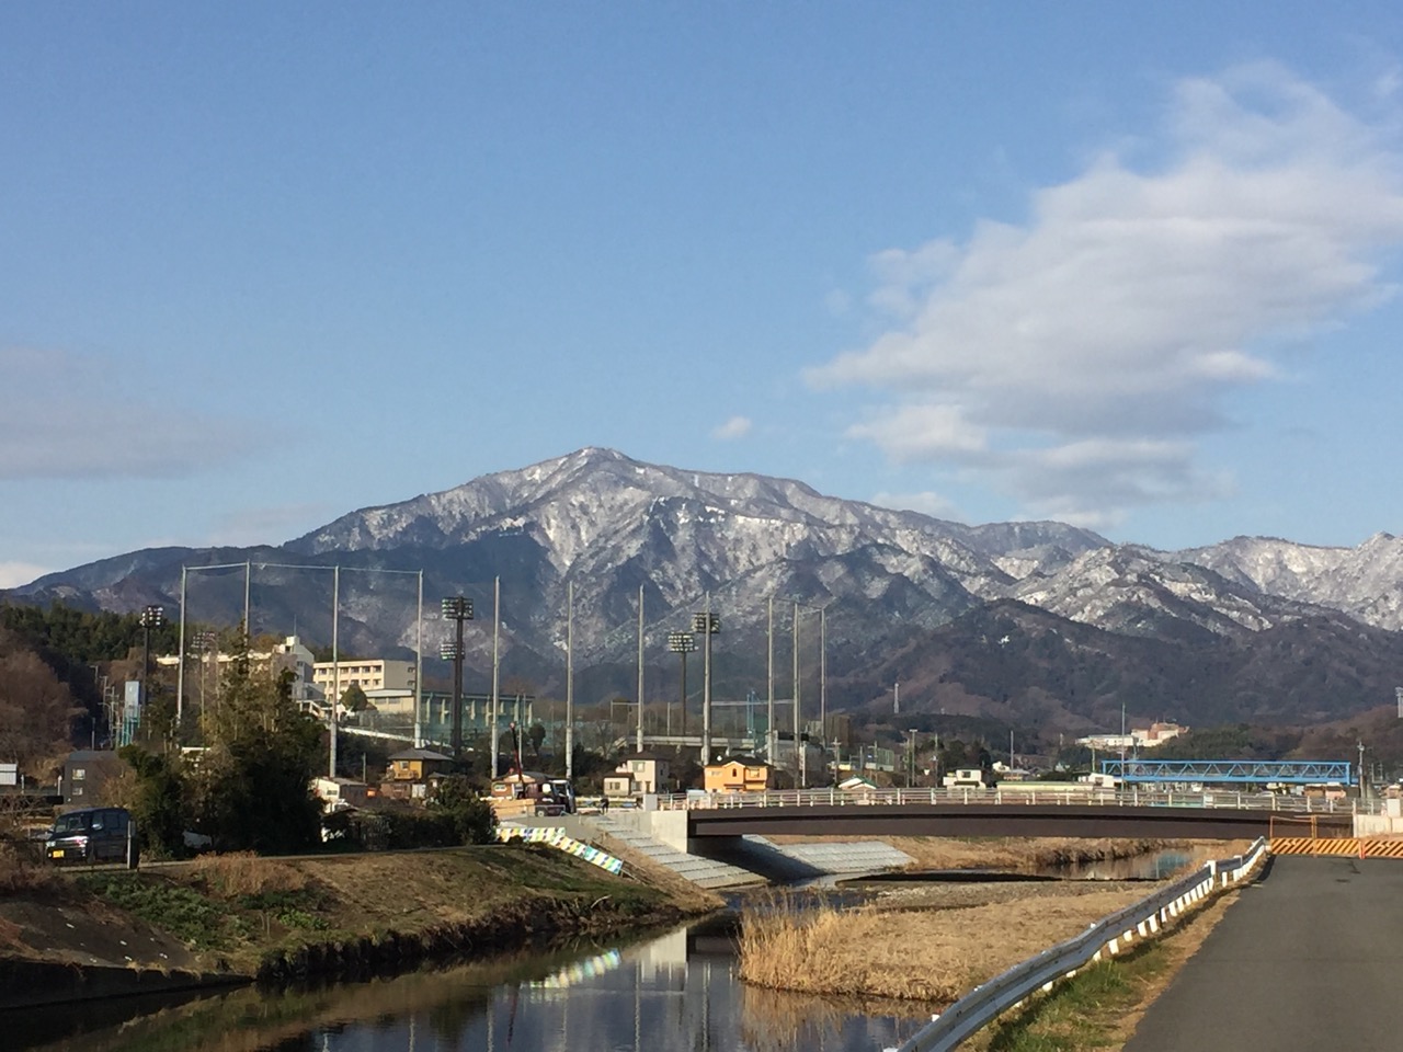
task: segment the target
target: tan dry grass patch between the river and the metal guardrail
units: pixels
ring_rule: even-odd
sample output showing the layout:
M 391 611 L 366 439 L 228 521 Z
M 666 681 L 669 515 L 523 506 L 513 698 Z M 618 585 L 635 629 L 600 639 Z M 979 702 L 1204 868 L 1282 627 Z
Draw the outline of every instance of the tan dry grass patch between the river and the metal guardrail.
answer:
M 1143 888 L 1041 895 L 957 912 L 760 901 L 742 915 L 741 978 L 807 993 L 948 1004 L 1143 896 Z

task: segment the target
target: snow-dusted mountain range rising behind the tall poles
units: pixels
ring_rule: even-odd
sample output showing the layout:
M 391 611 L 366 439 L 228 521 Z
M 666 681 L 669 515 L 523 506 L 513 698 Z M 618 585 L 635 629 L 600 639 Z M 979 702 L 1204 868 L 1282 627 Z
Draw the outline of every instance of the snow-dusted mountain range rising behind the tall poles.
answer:
M 787 640 L 796 605 L 801 619 L 822 607 L 828 668 L 835 687 L 846 682 L 852 704 L 885 690 L 874 670 L 894 654 L 919 661 L 923 647 L 944 645 L 933 642 L 937 630 L 1010 602 L 1086 626 L 1107 652 L 1127 652 L 1115 640 L 1250 648 L 1292 626 L 1330 626 L 1345 638 L 1350 624 L 1369 626 L 1378 651 L 1403 628 L 1403 541 L 1389 534 L 1358 548 L 1237 537 L 1166 553 L 1055 522 L 965 526 L 825 497 L 793 480 L 686 471 L 593 447 L 351 512 L 282 546 L 139 551 L 8 596 L 105 609 L 164 603 L 173 612 L 189 568 L 187 616 L 229 624 L 241 614 L 241 562 L 254 579 L 254 628 L 289 634 L 296 626 L 314 642 L 330 635 L 333 575 L 306 567 L 401 571 L 341 575 L 342 647 L 358 652 L 415 645 L 414 574 L 424 579 L 429 658 L 448 627 L 438 598 L 471 595 L 478 676 L 490 666 L 499 581 L 502 672 L 543 690 L 558 686 L 567 631 L 575 668 L 613 666 L 600 689 L 622 689 L 629 679 L 617 670 L 638 647 L 640 596 L 648 661 L 671 662 L 666 634 L 690 628 L 710 603 L 723 620 L 718 670 L 751 682 L 763 669 L 769 626 Z M 227 564 L 236 569 L 203 572 Z M 1045 617 L 1027 624 L 1051 631 Z M 1299 631 L 1291 638 L 1294 654 L 1309 649 Z M 1358 687 L 1361 696 L 1375 689 Z

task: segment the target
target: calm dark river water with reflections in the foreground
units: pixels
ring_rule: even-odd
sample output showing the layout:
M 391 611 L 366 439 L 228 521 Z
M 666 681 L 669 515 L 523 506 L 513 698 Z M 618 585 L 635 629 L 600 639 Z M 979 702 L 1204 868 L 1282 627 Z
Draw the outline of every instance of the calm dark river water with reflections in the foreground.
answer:
M 627 947 L 320 990 L 239 990 L 118 1027 L 84 1027 L 77 1009 L 62 1034 L 31 1030 L 27 1039 L 20 1021 L 8 1035 L 43 1052 L 874 1052 L 927 1018 L 913 1006 L 745 987 L 731 934 L 709 923 Z

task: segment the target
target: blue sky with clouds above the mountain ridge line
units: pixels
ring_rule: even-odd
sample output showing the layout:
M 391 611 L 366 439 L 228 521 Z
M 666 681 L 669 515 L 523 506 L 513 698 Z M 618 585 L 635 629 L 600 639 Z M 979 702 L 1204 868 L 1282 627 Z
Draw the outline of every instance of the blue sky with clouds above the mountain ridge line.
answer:
M 0 6 L 0 585 L 581 446 L 1403 526 L 1392 3 Z

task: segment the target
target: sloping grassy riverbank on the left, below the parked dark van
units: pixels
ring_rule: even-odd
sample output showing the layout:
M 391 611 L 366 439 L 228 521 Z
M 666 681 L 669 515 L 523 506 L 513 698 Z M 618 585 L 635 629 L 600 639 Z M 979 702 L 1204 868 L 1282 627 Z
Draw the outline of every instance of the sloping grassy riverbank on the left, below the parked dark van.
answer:
M 619 937 L 702 916 L 704 891 L 615 877 L 549 847 L 258 858 L 210 856 L 125 870 L 39 871 L 0 895 L 10 975 L 65 965 L 150 973 L 146 989 L 363 976 L 553 940 Z M 43 965 L 41 969 L 38 965 Z M 121 976 L 105 975 L 107 979 Z M 101 994 L 34 982 L 18 1003 Z

